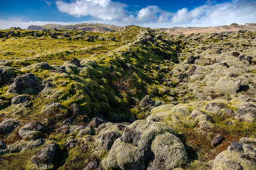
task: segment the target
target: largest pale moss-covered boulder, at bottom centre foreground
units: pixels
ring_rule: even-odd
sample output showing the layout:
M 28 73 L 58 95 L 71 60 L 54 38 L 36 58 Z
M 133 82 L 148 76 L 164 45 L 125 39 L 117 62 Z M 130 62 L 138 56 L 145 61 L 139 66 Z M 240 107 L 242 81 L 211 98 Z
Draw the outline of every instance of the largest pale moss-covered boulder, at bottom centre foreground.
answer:
M 106 169 L 174 169 L 188 162 L 187 153 L 171 127 L 137 120 L 116 139 L 102 161 Z

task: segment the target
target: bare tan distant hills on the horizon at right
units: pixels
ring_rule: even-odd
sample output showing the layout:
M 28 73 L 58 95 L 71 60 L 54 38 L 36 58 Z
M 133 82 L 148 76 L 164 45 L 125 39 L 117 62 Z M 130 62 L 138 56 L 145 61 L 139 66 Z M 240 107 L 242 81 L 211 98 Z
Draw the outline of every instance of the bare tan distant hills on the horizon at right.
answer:
M 214 33 L 214 32 L 236 32 L 241 29 L 248 31 L 256 31 L 256 24 L 238 25 L 233 23 L 231 25 L 222 25 L 217 27 L 173 27 L 173 28 L 159 28 L 158 30 L 170 34 L 196 34 L 196 33 Z

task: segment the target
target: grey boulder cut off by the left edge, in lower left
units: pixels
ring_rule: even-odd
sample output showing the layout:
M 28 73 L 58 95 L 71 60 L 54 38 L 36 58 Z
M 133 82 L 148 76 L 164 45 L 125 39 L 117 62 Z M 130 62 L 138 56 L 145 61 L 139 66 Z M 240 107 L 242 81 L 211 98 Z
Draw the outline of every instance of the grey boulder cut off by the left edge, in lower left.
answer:
M 3 118 L 0 123 L 0 134 L 10 134 L 18 125 L 19 121 L 13 118 Z

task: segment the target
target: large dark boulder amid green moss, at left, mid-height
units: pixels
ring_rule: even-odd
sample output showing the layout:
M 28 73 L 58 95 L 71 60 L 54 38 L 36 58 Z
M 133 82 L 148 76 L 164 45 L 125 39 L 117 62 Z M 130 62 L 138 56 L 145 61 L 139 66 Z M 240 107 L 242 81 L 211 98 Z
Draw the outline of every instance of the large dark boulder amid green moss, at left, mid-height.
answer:
M 43 89 L 42 82 L 33 73 L 17 76 L 8 92 L 16 94 L 37 94 Z

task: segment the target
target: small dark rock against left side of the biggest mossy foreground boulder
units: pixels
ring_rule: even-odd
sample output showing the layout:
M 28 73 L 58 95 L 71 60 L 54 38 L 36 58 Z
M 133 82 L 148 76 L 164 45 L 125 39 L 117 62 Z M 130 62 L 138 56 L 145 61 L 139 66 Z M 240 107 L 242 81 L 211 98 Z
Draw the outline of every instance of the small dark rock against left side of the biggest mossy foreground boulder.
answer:
M 107 131 L 100 136 L 100 141 L 104 149 L 109 150 L 115 140 L 120 138 L 121 134 L 119 131 Z

